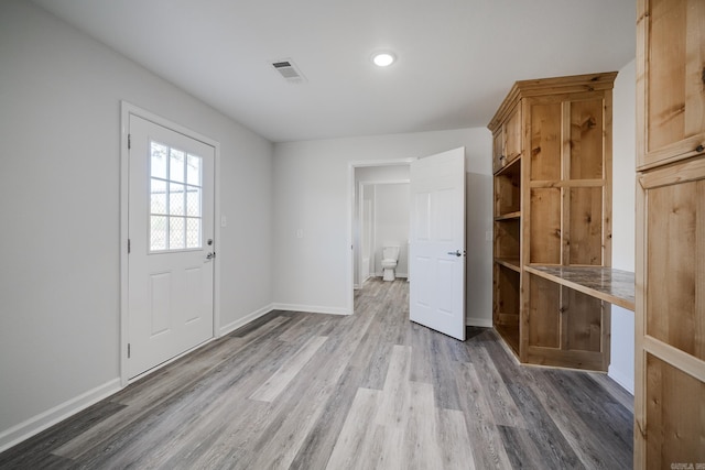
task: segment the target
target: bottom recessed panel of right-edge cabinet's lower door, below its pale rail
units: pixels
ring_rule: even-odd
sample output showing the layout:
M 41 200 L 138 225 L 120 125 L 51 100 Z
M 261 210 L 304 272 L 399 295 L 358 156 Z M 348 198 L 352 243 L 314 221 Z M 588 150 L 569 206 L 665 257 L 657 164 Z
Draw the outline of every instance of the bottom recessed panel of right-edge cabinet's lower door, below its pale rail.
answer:
M 647 468 L 705 462 L 705 383 L 647 353 Z M 691 467 L 695 468 L 695 467 Z

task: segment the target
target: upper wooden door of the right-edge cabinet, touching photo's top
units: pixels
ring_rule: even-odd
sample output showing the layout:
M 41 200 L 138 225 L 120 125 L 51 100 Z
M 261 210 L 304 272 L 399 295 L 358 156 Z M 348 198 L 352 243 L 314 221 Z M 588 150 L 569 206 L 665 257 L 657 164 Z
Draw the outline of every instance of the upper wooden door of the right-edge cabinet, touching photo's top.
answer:
M 638 0 L 637 167 L 705 151 L 705 1 Z

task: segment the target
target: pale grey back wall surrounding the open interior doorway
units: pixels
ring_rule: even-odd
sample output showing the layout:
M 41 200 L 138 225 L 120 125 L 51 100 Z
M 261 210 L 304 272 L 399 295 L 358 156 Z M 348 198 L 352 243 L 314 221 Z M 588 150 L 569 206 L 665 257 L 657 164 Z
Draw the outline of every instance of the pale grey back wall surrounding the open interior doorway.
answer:
M 347 314 L 352 292 L 350 163 L 415 159 L 466 147 L 467 317 L 491 325 L 491 135 L 460 129 L 290 142 L 274 146 L 274 300 L 282 308 Z M 471 215 L 471 216 L 470 216 Z M 297 230 L 304 237 L 297 238 Z

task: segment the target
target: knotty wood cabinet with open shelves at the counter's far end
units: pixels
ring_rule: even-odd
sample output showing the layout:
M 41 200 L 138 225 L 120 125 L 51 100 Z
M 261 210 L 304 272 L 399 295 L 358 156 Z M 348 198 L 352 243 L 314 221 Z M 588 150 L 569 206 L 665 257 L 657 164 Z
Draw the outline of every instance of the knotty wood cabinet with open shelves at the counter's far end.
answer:
M 611 262 L 616 73 L 517 81 L 494 136 L 494 325 L 521 362 L 606 371 L 610 305 L 527 265 Z

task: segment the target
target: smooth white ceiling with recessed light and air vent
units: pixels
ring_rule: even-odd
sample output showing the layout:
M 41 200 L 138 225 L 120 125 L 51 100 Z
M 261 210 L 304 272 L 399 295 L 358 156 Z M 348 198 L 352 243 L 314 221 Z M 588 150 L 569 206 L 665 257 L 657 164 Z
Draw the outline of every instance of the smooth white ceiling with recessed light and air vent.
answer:
M 485 127 L 516 80 L 634 57 L 634 0 L 33 1 L 273 142 Z

